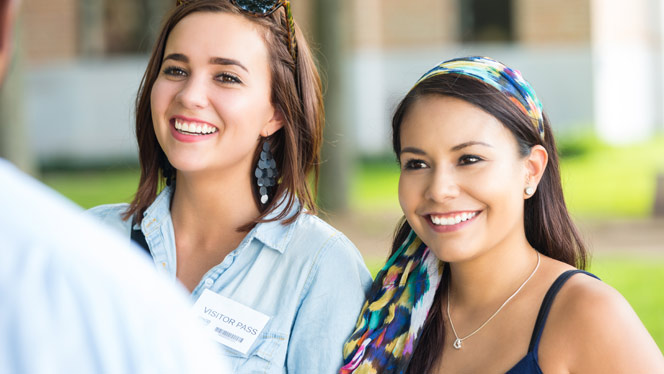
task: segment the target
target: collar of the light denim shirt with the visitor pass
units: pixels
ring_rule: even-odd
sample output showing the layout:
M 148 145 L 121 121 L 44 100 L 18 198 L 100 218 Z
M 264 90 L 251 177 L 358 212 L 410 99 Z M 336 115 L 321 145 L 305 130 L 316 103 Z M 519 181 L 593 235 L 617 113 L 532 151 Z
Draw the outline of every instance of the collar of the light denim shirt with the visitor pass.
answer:
M 172 186 L 166 186 L 157 195 L 157 198 L 143 213 L 141 228 L 143 233 L 148 236 L 152 231 L 158 229 L 163 223 L 171 219 L 171 199 L 174 189 Z M 239 247 L 249 244 L 254 238 L 258 239 L 264 245 L 283 253 L 292 238 L 294 225 L 284 225 L 283 221 L 292 217 L 300 206 L 296 198 L 295 204 L 286 216 L 277 221 L 261 222 L 254 226 L 247 236 L 242 240 Z M 274 218 L 286 208 L 286 196 L 282 197 L 278 203 L 277 209 L 270 213 L 266 219 Z M 304 213 L 304 212 L 303 212 Z

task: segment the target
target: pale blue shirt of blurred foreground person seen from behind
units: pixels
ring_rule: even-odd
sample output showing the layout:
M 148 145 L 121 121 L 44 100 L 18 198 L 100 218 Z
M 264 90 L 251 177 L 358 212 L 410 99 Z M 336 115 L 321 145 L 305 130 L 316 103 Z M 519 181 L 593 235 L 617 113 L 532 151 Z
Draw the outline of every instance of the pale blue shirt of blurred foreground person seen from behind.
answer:
M 0 159 L 0 373 L 224 373 L 183 288 Z

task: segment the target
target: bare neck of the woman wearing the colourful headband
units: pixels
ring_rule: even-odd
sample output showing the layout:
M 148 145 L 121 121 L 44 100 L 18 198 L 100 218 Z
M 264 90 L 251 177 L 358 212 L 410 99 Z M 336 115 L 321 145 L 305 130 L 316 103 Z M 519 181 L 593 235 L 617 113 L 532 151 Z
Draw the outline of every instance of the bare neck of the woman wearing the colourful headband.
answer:
M 525 234 L 468 261 L 450 264 L 451 300 L 457 309 L 500 305 L 530 276 L 537 253 Z

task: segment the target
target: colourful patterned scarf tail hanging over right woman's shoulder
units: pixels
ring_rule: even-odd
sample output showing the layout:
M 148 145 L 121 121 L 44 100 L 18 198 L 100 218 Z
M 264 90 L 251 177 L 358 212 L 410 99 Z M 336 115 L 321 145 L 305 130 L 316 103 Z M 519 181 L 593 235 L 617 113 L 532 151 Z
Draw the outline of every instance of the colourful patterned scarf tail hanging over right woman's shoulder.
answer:
M 405 373 L 442 272 L 443 263 L 411 230 L 376 276 L 340 373 Z

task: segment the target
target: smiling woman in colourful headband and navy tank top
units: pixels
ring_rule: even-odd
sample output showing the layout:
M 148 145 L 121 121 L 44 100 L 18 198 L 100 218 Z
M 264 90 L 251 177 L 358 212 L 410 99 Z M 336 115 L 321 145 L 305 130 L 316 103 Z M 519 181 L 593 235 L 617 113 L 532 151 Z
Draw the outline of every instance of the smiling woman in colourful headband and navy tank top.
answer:
M 392 130 L 405 220 L 341 373 L 664 373 L 629 304 L 578 270 L 553 134 L 519 72 L 443 62 Z

